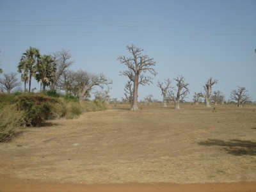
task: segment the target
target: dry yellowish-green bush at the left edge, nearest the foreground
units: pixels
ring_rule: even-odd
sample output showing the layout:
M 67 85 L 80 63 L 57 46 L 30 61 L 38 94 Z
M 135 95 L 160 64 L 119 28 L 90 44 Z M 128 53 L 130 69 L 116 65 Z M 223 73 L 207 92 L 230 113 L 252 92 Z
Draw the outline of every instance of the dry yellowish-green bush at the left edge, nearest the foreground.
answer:
M 17 111 L 15 105 L 6 105 L 0 109 L 0 142 L 12 140 L 24 127 L 24 113 Z

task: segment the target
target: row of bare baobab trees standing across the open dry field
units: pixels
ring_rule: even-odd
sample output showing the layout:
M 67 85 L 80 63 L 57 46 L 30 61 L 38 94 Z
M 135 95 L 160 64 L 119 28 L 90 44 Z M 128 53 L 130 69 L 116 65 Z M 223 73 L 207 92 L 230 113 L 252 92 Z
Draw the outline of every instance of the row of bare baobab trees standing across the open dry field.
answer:
M 130 57 L 119 56 L 118 61 L 127 67 L 127 70 L 120 72 L 123 76 L 128 77 L 127 84 L 125 84 L 124 95 L 125 100 L 131 103 L 131 110 L 138 110 L 138 86 L 152 84 L 152 77 L 146 76 L 147 72 L 152 76 L 156 76 L 157 72 L 154 69 L 156 61 L 147 55 L 143 55 L 143 49 L 135 45 L 127 45 L 127 50 L 131 54 Z M 178 76 L 173 79 L 175 86 L 172 86 L 170 78 L 165 79 L 164 82 L 158 81 L 157 87 L 161 89 L 163 95 L 163 107 L 167 107 L 167 102 L 175 102 L 175 109 L 180 109 L 180 102 L 183 102 L 189 93 L 189 83 L 186 82 L 184 76 Z M 214 103 L 223 102 L 224 95 L 219 90 L 212 93 L 212 86 L 218 83 L 217 79 L 210 77 L 205 83 L 205 93 L 195 93 L 193 96 L 194 102 L 197 104 L 201 98 L 205 99 L 205 106 L 211 107 L 211 100 Z M 230 100 L 237 102 L 237 106 L 241 107 L 242 104 L 249 102 L 250 96 L 246 93 L 246 88 L 238 86 L 236 90 L 230 93 Z

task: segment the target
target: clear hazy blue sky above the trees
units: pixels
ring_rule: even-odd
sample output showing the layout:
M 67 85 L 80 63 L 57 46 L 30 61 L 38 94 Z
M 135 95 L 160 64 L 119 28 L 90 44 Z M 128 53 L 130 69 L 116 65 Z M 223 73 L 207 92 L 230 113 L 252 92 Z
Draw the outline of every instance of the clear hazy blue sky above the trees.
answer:
M 65 49 L 71 70 L 103 73 L 113 81 L 111 98 L 124 97 L 127 77 L 118 56 L 131 56 L 136 45 L 154 58 L 157 76 L 139 86 L 139 100 L 162 99 L 157 81 L 184 76 L 188 101 L 204 92 L 209 77 L 218 79 L 212 92 L 225 99 L 244 86 L 256 101 L 255 0 L 0 0 L 0 68 L 17 72 L 30 46 L 41 54 Z M 149 74 L 148 74 L 149 75 Z M 2 74 L 3 76 L 3 74 Z M 34 80 L 33 86 L 38 84 Z

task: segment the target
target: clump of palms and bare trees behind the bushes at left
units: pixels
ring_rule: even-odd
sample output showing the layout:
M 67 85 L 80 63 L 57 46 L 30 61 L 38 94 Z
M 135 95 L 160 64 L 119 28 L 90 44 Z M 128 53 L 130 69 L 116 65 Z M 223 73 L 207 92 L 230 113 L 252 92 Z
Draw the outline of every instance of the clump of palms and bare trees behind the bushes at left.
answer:
M 69 67 L 73 63 L 69 51 L 61 50 L 49 55 L 42 55 L 39 49 L 29 47 L 22 54 L 17 66 L 17 72 L 21 74 L 21 81 L 24 83 L 24 92 L 32 91 L 32 77 L 40 83 L 42 92 L 48 87 L 49 90 L 75 95 L 79 100 L 89 97 L 94 86 L 103 88 L 105 84 L 111 84 L 104 74 L 70 70 Z M 16 73 L 3 74 L 3 77 L 0 78 L 1 92 L 10 93 L 13 88 L 19 86 L 20 81 Z

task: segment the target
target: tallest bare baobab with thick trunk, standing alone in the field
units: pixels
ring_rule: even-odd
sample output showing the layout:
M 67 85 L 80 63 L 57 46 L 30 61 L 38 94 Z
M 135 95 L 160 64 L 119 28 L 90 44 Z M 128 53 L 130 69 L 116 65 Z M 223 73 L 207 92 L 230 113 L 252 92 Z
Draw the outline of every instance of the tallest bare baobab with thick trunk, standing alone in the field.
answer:
M 153 76 L 156 76 L 154 66 L 156 62 L 153 58 L 149 58 L 147 55 L 142 55 L 143 49 L 140 49 L 134 45 L 127 45 L 127 50 L 132 54 L 132 57 L 126 58 L 125 56 L 119 56 L 118 61 L 124 64 L 128 69 L 120 72 L 122 75 L 127 76 L 133 83 L 133 98 L 131 110 L 137 111 L 138 108 L 138 86 L 152 83 L 152 77 L 145 76 L 146 72 L 150 72 Z

